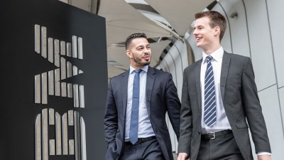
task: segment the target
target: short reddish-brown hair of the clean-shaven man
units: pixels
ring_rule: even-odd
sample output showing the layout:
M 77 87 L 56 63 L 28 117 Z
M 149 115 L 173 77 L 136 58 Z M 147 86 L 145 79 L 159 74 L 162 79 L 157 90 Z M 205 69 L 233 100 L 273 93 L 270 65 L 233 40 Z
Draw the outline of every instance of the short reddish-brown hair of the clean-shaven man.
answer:
M 211 28 L 216 26 L 220 27 L 220 41 L 222 40 L 224 33 L 226 31 L 226 18 L 217 11 L 202 11 L 195 14 L 195 18 L 202 18 L 207 16 L 210 20 L 209 25 Z

